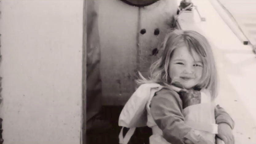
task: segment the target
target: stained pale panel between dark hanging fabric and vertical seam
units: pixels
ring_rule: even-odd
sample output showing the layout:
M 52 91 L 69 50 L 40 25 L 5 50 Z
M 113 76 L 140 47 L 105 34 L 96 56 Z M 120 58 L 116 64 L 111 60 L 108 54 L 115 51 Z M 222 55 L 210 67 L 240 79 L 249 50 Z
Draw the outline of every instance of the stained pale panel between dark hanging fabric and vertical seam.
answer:
M 120 0 L 96 1 L 104 105 L 122 105 L 135 90 L 139 8 Z

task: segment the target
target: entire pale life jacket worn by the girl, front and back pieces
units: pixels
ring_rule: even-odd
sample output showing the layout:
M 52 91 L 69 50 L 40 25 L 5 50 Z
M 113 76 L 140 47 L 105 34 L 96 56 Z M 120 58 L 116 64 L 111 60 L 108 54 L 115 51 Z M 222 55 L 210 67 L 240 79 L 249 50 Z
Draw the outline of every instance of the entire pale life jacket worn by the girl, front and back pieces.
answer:
M 164 86 L 156 83 L 142 84 L 132 94 L 130 99 L 125 104 L 120 113 L 118 125 L 122 126 L 119 134 L 119 143 L 127 144 L 134 134 L 136 127 L 148 126 L 152 128 L 153 135 L 149 138 L 151 144 L 170 144 L 163 138 L 162 130 L 154 122 L 150 113 L 150 103 L 157 91 L 160 91 Z M 181 88 L 170 86 L 170 89 L 179 92 Z M 185 123 L 195 130 L 199 130 L 203 136 L 209 139 L 214 138 L 218 133 L 218 125 L 215 124 L 214 103 L 211 103 L 211 96 L 207 90 L 201 90 L 201 103 L 191 105 L 183 109 Z M 198 112 L 199 110 L 199 112 Z M 205 114 L 208 114 L 207 121 L 204 123 Z M 203 115 L 203 116 L 202 116 Z M 210 117 L 210 118 L 209 118 Z M 193 121 L 195 120 L 195 121 Z M 203 120 L 203 121 L 202 121 Z M 198 123 L 198 121 L 200 123 Z M 203 123 L 202 123 L 203 122 Z M 124 127 L 129 128 L 128 132 L 123 136 Z M 204 133 L 206 131 L 206 133 Z M 213 140 L 215 142 L 215 140 Z M 219 141 L 219 140 L 218 140 Z

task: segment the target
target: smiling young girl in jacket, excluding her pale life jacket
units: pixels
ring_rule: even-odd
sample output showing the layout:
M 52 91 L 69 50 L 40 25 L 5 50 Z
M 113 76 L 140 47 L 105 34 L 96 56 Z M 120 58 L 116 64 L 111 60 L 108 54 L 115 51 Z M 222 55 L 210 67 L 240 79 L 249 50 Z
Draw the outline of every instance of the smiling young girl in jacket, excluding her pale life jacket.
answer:
M 197 32 L 174 30 L 166 36 L 162 47 L 161 58 L 150 68 L 149 80 L 142 77 L 137 81 L 140 84 L 158 83 L 164 87 L 155 93 L 150 103 L 148 113 L 153 119 L 151 126 L 154 134 L 150 143 L 214 143 L 214 140 L 186 124 L 184 117 L 186 107 L 201 103 L 201 91 L 208 91 L 211 102 L 217 95 L 217 71 L 211 46 Z M 225 144 L 234 144 L 234 121 L 230 115 L 217 105 L 213 118 L 218 124 L 217 136 Z M 211 120 L 207 116 L 206 119 Z

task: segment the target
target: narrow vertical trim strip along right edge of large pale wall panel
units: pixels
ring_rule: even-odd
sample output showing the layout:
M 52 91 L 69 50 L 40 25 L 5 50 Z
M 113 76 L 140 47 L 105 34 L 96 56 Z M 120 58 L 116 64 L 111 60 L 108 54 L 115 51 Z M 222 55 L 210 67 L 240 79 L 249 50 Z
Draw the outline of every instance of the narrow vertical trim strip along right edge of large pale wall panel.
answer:
M 80 143 L 86 143 L 86 39 L 87 39 L 87 31 L 86 31 L 86 0 L 84 0 L 83 6 L 83 57 L 82 57 L 82 117 L 81 117 L 81 137 Z

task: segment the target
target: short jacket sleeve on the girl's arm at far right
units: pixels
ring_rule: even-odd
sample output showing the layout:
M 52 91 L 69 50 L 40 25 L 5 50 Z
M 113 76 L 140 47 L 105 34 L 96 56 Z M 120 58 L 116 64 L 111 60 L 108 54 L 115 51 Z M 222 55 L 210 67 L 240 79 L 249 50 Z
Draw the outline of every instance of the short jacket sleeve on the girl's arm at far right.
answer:
M 231 116 L 219 105 L 215 107 L 216 124 L 227 123 L 231 129 L 234 129 L 234 120 Z

